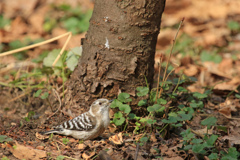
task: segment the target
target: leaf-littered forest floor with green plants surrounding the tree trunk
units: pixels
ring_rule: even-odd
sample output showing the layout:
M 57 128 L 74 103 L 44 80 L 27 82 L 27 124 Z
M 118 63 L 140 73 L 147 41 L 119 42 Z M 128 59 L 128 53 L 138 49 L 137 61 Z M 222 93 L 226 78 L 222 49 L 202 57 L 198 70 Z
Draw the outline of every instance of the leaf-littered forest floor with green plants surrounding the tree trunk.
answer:
M 68 31 L 73 36 L 67 50 L 78 52 L 93 3 L 52 2 L 1 1 L 0 53 Z M 0 54 L 1 160 L 107 159 L 108 155 L 116 160 L 239 159 L 239 7 L 240 1 L 234 0 L 167 0 L 156 46 L 155 82 L 160 59 L 163 69 L 184 17 L 169 61 L 169 70 L 175 73 L 164 82 L 158 104 L 146 106 L 144 98 L 151 92 L 138 90 L 143 96 L 139 107 L 149 115 L 123 112 L 128 123 L 119 125 L 114 122 L 116 109 L 111 109 L 114 123 L 96 140 L 38 133 L 83 112 L 62 105 L 64 82 L 74 60 L 58 63 L 54 69 L 49 65 L 67 37 L 21 53 Z M 123 103 L 121 97 L 118 101 Z

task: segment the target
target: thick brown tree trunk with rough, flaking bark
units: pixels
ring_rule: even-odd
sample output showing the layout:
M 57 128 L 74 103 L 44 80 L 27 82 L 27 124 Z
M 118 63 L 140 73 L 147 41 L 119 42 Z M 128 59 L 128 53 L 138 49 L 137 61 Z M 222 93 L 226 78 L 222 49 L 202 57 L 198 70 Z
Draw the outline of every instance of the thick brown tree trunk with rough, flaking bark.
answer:
M 68 82 L 66 105 L 85 107 L 151 85 L 165 0 L 95 0 L 83 53 Z M 87 108 L 85 108 L 87 109 Z

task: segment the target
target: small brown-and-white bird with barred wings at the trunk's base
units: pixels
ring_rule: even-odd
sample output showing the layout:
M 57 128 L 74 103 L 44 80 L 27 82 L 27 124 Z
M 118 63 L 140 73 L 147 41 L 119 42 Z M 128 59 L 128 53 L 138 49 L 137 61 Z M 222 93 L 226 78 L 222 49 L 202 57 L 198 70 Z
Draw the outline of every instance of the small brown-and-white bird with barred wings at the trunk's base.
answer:
M 112 100 L 104 98 L 98 99 L 92 103 L 88 112 L 41 134 L 57 133 L 81 140 L 94 139 L 101 135 L 110 123 L 109 106 L 111 102 Z

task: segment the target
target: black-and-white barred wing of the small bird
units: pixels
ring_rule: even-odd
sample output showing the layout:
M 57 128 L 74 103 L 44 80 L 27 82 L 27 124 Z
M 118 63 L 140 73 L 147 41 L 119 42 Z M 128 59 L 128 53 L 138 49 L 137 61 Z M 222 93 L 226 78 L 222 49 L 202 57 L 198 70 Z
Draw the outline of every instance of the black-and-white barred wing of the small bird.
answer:
M 96 121 L 96 117 L 93 117 L 91 114 L 86 112 L 54 128 L 64 128 L 77 131 L 90 131 L 96 126 Z

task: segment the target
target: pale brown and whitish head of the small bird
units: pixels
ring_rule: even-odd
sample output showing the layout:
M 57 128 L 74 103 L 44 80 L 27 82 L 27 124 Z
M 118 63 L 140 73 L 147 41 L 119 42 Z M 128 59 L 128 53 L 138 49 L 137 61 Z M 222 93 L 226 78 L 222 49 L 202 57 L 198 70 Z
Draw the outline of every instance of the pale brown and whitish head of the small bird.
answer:
M 108 100 L 105 98 L 97 99 L 94 101 L 90 107 L 90 112 L 93 115 L 99 115 L 103 113 L 109 112 L 109 106 L 111 104 L 112 100 Z

